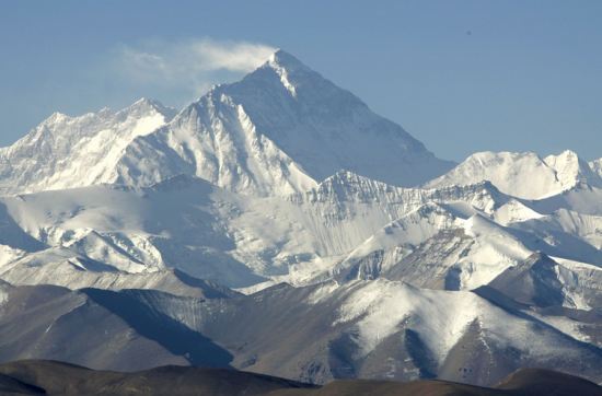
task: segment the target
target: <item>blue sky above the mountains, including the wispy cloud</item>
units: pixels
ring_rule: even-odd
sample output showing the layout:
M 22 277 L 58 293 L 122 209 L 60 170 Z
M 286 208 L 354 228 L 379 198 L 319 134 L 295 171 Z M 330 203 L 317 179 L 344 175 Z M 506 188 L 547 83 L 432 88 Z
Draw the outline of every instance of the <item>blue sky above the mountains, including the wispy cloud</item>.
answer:
M 0 145 L 55 112 L 176 108 L 282 48 L 437 156 L 602 158 L 602 1 L 0 2 Z

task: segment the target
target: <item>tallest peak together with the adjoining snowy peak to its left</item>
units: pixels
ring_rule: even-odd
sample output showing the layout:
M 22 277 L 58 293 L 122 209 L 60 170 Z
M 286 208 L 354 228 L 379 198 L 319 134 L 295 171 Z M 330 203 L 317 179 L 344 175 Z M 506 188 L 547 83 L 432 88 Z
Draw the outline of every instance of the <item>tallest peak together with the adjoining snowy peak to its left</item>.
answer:
M 114 116 L 50 117 L 2 149 L 0 187 L 16 194 L 99 183 L 148 186 L 184 173 L 273 196 L 315 187 L 341 168 L 409 187 L 453 165 L 282 50 L 175 118 L 155 102 L 142 104 L 146 113 L 134 112 L 139 102 Z

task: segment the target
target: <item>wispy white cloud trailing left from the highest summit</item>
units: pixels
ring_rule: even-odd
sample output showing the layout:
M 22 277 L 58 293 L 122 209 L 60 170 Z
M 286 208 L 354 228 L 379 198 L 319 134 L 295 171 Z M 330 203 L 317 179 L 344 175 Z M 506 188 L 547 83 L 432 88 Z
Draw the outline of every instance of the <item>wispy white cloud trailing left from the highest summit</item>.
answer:
M 216 74 L 253 71 L 275 50 L 264 44 L 207 37 L 178 43 L 154 40 L 139 48 L 124 45 L 114 66 L 129 83 L 202 93 L 216 82 Z

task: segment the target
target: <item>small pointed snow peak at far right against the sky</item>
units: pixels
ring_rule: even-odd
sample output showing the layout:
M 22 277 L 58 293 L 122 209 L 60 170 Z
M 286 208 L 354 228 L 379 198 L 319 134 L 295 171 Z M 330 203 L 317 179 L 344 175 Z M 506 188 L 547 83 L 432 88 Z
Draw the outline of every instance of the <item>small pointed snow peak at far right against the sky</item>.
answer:
M 588 184 L 592 187 L 602 187 L 602 178 L 590 165 L 579 159 L 570 150 L 559 155 L 549 155 L 544 159 L 547 166 L 556 171 L 556 177 L 563 185 L 563 189 L 575 187 L 579 183 Z

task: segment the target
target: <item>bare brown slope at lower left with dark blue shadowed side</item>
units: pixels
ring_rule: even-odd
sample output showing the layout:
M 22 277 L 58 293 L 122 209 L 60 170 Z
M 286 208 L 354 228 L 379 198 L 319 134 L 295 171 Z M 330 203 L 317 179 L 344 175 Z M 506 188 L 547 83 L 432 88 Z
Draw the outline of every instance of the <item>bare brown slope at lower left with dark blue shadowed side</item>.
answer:
M 7 289 L 0 361 L 51 359 L 95 369 L 165 364 L 229 366 L 230 354 L 177 321 L 144 311 L 127 293 L 55 286 Z

